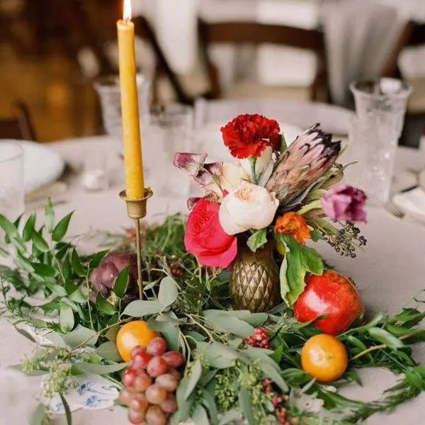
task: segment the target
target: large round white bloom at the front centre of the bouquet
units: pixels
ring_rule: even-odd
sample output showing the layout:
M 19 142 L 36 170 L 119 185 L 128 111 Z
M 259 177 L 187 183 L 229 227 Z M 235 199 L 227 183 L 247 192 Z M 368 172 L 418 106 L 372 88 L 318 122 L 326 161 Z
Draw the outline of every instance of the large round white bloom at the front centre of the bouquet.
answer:
M 244 182 L 232 188 L 220 205 L 220 224 L 227 234 L 247 229 L 263 229 L 270 225 L 278 209 L 275 193 Z

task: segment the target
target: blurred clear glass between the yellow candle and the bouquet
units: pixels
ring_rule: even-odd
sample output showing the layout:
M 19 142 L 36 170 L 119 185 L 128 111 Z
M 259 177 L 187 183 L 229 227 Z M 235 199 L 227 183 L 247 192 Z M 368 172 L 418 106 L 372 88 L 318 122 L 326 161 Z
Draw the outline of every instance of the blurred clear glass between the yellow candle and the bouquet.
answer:
M 176 152 L 191 152 L 193 108 L 179 103 L 151 109 L 150 125 L 142 130 L 143 164 L 159 196 L 187 197 L 191 180 L 174 162 Z

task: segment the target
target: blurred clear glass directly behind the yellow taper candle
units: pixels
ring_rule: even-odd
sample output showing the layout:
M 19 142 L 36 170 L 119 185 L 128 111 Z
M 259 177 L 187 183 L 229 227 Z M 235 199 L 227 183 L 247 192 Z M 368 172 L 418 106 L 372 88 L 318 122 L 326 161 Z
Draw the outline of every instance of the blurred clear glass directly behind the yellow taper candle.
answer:
M 137 91 L 139 97 L 140 125 L 149 122 L 150 81 L 142 74 L 137 74 Z M 120 77 L 110 76 L 98 79 L 94 84 L 102 109 L 103 127 L 108 135 L 123 137 L 123 119 L 121 114 Z

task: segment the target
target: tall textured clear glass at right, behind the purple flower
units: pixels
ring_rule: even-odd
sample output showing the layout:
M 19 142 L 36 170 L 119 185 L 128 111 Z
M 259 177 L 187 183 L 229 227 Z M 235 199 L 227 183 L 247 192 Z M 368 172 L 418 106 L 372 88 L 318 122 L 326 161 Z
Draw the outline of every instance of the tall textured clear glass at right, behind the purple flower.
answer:
M 397 142 L 402 133 L 410 87 L 382 78 L 350 85 L 356 102 L 350 142 L 363 169 L 360 186 L 375 205 L 387 202 L 394 171 Z

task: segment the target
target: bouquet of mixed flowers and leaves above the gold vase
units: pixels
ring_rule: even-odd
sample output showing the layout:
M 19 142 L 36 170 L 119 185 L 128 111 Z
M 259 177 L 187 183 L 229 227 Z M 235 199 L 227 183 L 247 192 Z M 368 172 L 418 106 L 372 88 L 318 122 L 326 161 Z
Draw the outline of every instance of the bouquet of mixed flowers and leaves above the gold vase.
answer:
M 346 168 L 338 162 L 341 142 L 332 141 L 318 124 L 289 146 L 276 120 L 261 115 L 239 115 L 221 132 L 236 162 L 207 163 L 207 154 L 188 153 L 174 159 L 205 194 L 188 200 L 186 249 L 205 266 L 226 268 L 242 245 L 256 252 L 275 241 L 281 256 L 280 295 L 293 305 L 305 288 L 306 273 L 322 275 L 324 270 L 319 255 L 305 247 L 307 240 L 324 239 L 353 258 L 366 244 L 353 225 L 366 220 L 365 193 L 340 183 Z M 269 291 L 266 285 L 263 296 Z M 278 301 L 261 303 L 262 311 Z

